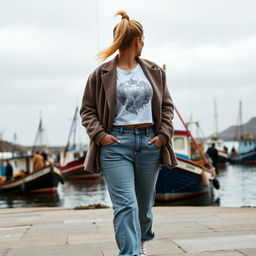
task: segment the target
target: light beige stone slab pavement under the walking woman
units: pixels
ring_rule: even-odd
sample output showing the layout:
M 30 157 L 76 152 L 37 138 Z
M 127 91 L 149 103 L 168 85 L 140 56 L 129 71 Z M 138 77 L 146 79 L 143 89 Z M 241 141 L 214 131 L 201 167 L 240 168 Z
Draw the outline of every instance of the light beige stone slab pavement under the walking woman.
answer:
M 256 256 L 256 208 L 154 207 L 150 256 Z M 112 209 L 0 209 L 0 255 L 116 256 Z

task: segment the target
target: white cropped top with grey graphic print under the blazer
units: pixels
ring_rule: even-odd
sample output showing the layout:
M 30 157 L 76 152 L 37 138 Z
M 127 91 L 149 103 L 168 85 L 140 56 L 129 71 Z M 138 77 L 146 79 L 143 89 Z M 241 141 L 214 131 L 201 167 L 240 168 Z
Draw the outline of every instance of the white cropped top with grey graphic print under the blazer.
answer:
M 153 89 L 139 64 L 134 69 L 117 68 L 114 125 L 153 123 Z

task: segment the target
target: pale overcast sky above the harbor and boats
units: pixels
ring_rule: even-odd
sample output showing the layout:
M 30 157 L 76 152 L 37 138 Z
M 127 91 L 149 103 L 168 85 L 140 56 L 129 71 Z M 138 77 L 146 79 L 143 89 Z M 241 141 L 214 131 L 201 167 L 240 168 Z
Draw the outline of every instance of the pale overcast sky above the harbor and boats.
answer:
M 42 111 L 49 145 L 66 144 L 87 77 L 98 65 L 94 56 L 112 43 L 120 9 L 144 27 L 142 57 L 166 64 L 185 121 L 213 133 L 215 98 L 219 131 L 236 124 L 239 100 L 244 122 L 256 116 L 254 0 L 1 0 L 3 139 L 13 141 L 17 133 L 20 144 L 32 145 Z M 177 115 L 174 125 L 182 128 Z M 86 143 L 83 128 L 78 134 Z

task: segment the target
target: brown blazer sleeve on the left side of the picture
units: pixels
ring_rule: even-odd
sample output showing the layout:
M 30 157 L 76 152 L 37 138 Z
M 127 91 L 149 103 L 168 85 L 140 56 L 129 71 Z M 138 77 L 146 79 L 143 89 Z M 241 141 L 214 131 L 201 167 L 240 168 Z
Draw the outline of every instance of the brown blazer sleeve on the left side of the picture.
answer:
M 101 139 L 107 135 L 107 133 L 104 131 L 104 128 L 98 118 L 96 88 L 97 78 L 94 72 L 89 76 L 85 86 L 82 105 L 80 108 L 80 116 L 82 125 L 86 128 L 89 138 L 99 145 Z

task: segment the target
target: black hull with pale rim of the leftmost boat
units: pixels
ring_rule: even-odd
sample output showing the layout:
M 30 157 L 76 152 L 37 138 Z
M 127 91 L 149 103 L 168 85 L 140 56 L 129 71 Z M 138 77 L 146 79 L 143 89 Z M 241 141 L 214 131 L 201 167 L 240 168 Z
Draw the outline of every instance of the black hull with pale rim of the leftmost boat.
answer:
M 0 193 L 55 193 L 59 182 L 64 182 L 59 169 L 56 166 L 48 166 L 17 180 L 0 184 Z

